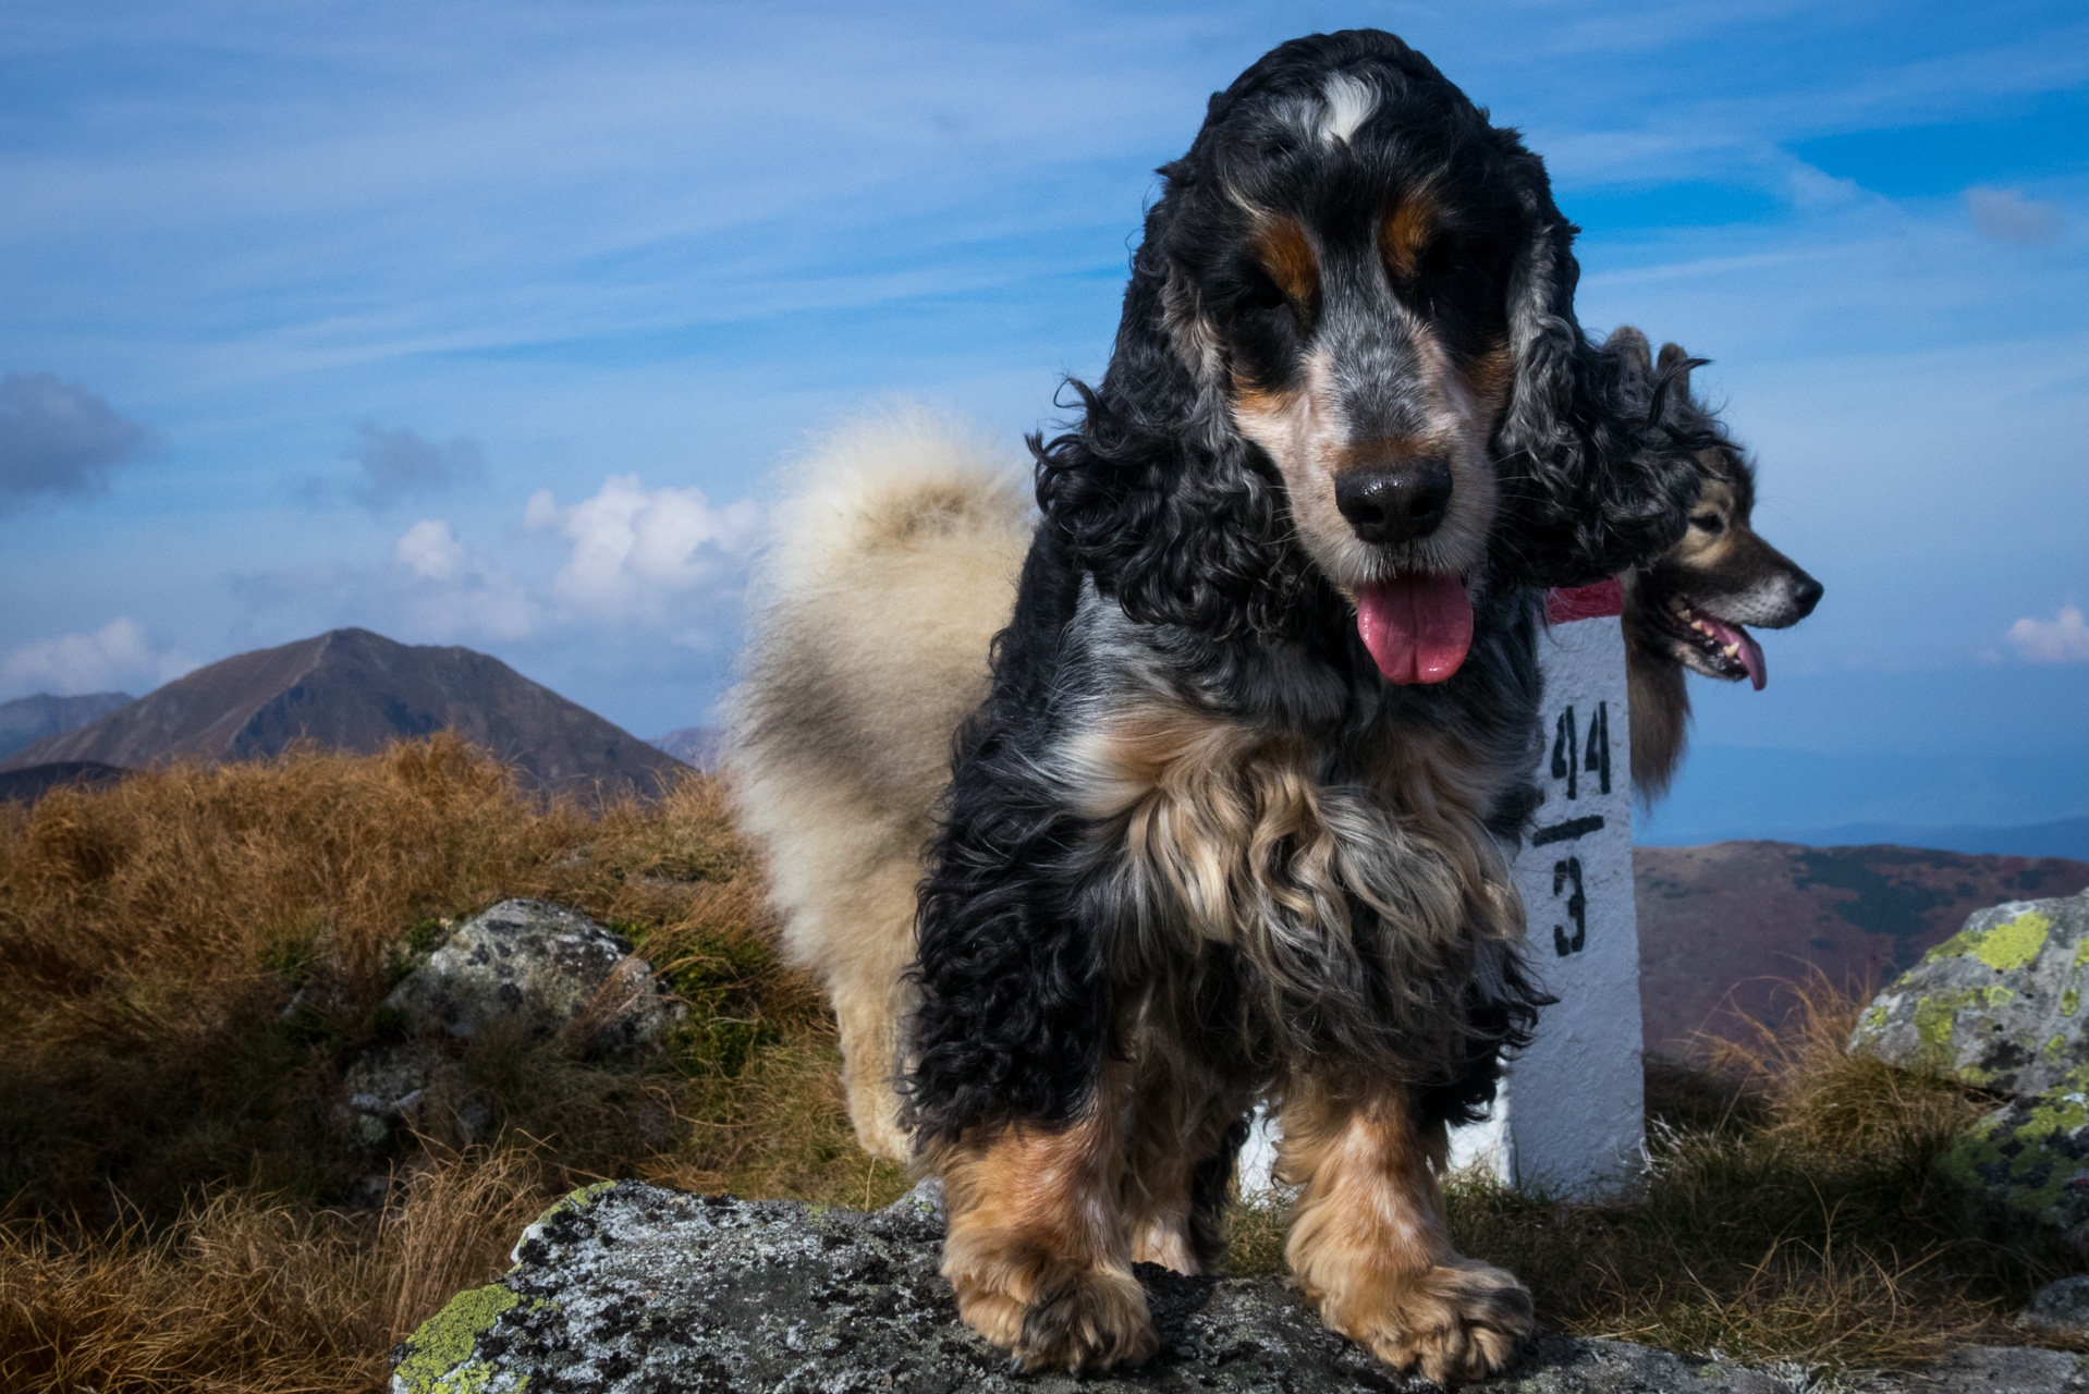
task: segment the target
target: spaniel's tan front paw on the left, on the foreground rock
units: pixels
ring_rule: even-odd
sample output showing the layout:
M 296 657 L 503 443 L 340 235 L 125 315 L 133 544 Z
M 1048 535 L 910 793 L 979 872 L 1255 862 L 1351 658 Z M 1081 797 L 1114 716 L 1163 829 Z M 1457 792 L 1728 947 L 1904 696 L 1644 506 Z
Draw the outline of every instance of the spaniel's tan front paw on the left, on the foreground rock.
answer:
M 1036 1264 L 1007 1271 L 1001 1281 L 950 1273 L 950 1283 L 959 1317 L 1022 1369 L 1101 1373 L 1139 1365 L 1159 1348 L 1147 1294 L 1126 1269 Z

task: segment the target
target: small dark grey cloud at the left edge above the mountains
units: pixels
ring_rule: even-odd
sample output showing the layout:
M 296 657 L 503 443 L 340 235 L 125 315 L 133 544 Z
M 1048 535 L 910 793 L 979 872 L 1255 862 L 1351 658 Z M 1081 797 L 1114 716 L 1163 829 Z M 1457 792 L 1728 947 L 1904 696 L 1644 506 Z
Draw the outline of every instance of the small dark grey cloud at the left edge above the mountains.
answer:
M 152 447 L 152 431 L 50 372 L 0 378 L 0 512 L 38 495 L 100 493 L 109 470 Z

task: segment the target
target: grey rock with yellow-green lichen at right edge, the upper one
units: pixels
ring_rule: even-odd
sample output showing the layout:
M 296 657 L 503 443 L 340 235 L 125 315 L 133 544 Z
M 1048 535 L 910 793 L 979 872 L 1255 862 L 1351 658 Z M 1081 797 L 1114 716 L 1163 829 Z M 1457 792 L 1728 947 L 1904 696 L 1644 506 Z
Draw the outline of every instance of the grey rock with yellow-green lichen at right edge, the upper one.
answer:
M 1982 909 L 1857 1020 L 1851 1051 L 2020 1097 L 2089 1089 L 2089 892 Z

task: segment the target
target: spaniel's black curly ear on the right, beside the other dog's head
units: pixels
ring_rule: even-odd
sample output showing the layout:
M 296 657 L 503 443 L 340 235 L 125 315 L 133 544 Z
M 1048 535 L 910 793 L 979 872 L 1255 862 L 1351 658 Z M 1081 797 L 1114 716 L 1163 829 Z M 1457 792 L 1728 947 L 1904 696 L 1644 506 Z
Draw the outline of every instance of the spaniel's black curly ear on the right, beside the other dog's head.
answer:
M 1652 420 L 1646 336 L 1590 345 L 1573 313 L 1579 228 L 1544 163 L 1500 132 L 1521 171 L 1523 251 L 1508 284 L 1515 382 L 1496 433 L 1502 516 L 1494 566 L 1523 585 L 1586 585 L 1665 552 L 1696 493 L 1692 431 Z

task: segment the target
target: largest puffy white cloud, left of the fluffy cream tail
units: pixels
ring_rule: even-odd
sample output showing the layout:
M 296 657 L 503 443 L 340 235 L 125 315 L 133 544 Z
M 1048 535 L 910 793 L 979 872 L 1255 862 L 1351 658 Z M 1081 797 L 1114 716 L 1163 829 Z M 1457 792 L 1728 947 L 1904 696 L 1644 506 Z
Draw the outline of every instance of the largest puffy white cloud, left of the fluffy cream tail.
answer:
M 646 489 L 637 474 L 610 474 L 595 497 L 566 508 L 539 489 L 524 522 L 572 541 L 551 581 L 558 596 L 620 619 L 656 617 L 689 591 L 737 587 L 760 510 L 748 499 L 712 508 L 702 489 Z

